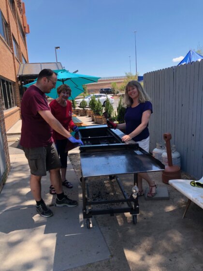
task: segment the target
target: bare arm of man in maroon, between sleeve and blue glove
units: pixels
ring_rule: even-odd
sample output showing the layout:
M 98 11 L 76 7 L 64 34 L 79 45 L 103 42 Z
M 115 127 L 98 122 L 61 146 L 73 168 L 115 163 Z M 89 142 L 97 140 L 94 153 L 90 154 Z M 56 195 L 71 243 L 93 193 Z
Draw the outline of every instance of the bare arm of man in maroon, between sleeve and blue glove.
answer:
M 52 115 L 49 110 L 39 110 L 38 113 L 41 117 L 51 126 L 53 130 L 58 132 L 58 134 L 65 136 L 66 138 L 72 135 L 60 124 L 60 122 Z

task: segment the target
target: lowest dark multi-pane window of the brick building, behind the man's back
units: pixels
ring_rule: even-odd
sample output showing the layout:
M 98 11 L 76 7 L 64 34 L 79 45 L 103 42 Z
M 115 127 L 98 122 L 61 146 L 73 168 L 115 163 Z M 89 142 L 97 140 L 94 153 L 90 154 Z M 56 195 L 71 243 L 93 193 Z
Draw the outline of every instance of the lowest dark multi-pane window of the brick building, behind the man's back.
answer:
M 12 108 L 15 106 L 14 90 L 11 82 L 4 79 L 0 79 L 0 91 L 3 102 L 3 110 Z

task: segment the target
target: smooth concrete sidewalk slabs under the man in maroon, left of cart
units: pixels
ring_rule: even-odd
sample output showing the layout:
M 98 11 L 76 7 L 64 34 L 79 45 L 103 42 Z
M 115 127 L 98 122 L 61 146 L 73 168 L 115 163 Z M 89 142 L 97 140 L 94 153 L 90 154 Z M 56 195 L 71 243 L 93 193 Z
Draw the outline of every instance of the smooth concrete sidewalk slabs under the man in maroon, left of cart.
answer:
M 18 135 L 21 121 L 9 131 Z M 49 194 L 49 176 L 42 178 L 42 196 L 54 212 L 43 218 L 37 214 L 29 188 L 29 166 L 19 142 L 9 142 L 11 171 L 0 193 L 0 270 L 63 271 L 108 259 L 109 249 L 93 219 L 87 229 L 82 215 L 80 181 L 68 159 L 67 179 L 73 189 L 65 194 L 76 199 L 75 208 L 57 208 L 56 196 Z M 74 150 L 79 153 L 79 150 Z

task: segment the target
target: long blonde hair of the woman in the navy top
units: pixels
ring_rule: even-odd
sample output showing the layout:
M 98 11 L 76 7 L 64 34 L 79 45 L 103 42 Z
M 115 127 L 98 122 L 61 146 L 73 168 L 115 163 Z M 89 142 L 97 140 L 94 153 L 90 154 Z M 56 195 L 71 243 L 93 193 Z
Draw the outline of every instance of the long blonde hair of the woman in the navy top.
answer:
M 142 85 L 138 81 L 133 80 L 133 81 L 128 82 L 128 84 L 126 85 L 126 88 L 125 88 L 123 102 L 124 102 L 124 105 L 126 105 L 127 107 L 130 107 L 133 103 L 132 98 L 128 94 L 128 87 L 136 87 L 137 88 L 138 93 L 139 93 L 139 103 L 140 104 L 143 104 L 146 101 L 151 100 L 149 95 L 143 89 Z

